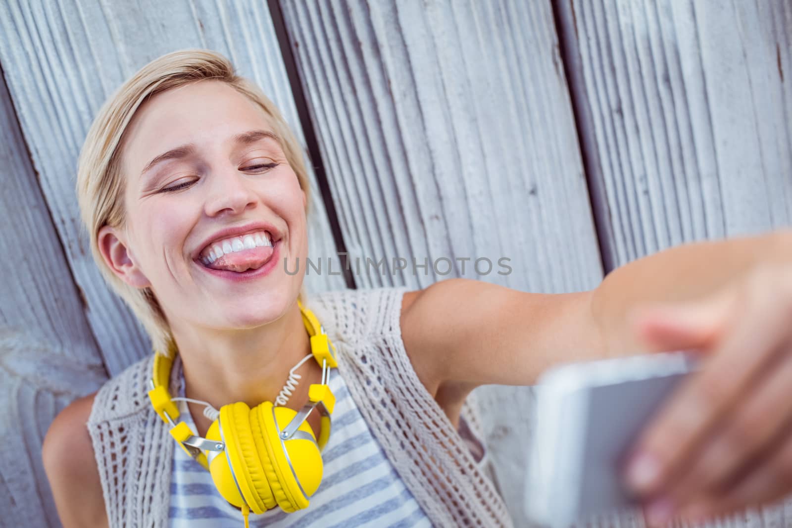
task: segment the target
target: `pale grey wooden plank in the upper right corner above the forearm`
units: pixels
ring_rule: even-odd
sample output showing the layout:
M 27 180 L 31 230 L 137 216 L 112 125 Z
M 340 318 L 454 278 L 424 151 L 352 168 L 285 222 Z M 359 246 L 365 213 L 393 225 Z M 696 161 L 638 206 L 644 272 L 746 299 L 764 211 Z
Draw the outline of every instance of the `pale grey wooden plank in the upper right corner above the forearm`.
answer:
M 615 265 L 790 225 L 790 2 L 571 0 L 559 10 L 572 21 L 573 93 Z

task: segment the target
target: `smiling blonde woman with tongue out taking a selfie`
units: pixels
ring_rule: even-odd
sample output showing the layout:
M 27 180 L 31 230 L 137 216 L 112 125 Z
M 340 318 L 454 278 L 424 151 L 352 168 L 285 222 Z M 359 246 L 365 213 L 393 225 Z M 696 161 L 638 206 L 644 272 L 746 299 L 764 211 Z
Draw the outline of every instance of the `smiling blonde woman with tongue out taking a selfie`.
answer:
M 306 298 L 304 266 L 292 275 L 280 264 L 294 269 L 307 257 L 302 151 L 267 97 L 204 50 L 154 60 L 105 103 L 82 148 L 77 192 L 97 265 L 163 359 L 128 367 L 51 425 L 44 465 L 67 528 L 511 526 L 465 404 L 470 391 L 528 385 L 562 361 L 672 348 L 710 352 L 710 368 L 637 451 L 630 478 L 651 519 L 710 515 L 792 488 L 784 480 L 792 473 L 777 469 L 792 467 L 792 409 L 770 405 L 792 399 L 788 232 L 670 249 L 619 268 L 593 291 L 530 294 L 451 279 L 423 291 Z M 631 309 L 657 301 L 688 304 L 630 324 Z M 337 368 L 329 356 L 311 360 L 313 316 Z M 169 399 L 157 408 L 148 391 L 162 364 Z M 270 450 L 277 437 L 261 433 L 255 412 L 232 425 L 231 411 L 218 411 L 234 402 L 276 402 L 289 416 L 309 402 L 334 408 L 329 439 L 325 414 L 310 412 L 301 439 L 288 440 L 326 439 L 310 505 L 294 506 L 306 481 L 283 484 L 288 476 L 270 462 L 234 474 L 223 494 L 215 486 L 201 467 L 209 460 L 283 456 Z M 218 415 L 221 436 L 202 443 Z M 251 438 L 236 455 L 234 427 Z M 680 471 L 691 460 L 696 472 Z M 304 463 L 288 461 L 295 477 Z M 744 480 L 723 486 L 746 467 Z M 236 492 L 243 500 L 234 505 L 225 493 Z

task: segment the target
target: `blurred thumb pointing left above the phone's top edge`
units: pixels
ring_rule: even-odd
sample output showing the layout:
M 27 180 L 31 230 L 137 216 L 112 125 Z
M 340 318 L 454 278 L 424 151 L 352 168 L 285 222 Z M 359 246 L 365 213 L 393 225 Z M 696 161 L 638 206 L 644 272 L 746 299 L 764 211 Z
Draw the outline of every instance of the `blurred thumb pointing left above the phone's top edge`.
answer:
M 733 307 L 733 295 L 725 291 L 699 301 L 640 306 L 631 311 L 630 324 L 649 351 L 708 351 L 728 327 Z

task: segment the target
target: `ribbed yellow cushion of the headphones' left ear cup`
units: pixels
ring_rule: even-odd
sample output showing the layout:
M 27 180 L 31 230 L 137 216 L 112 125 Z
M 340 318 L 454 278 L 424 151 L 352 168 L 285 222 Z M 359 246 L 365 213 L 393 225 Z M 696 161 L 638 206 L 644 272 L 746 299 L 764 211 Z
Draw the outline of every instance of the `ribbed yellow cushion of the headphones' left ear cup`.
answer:
M 243 402 L 220 408 L 218 428 L 223 432 L 226 453 L 216 456 L 212 463 L 219 458 L 227 458 L 227 465 L 230 460 L 230 473 L 232 478 L 235 477 L 234 486 L 238 484 L 250 510 L 261 514 L 276 507 L 277 503 L 265 477 L 264 465 L 269 464 L 269 457 L 266 450 L 258 450 L 256 435 L 250 427 L 251 416 L 250 408 Z

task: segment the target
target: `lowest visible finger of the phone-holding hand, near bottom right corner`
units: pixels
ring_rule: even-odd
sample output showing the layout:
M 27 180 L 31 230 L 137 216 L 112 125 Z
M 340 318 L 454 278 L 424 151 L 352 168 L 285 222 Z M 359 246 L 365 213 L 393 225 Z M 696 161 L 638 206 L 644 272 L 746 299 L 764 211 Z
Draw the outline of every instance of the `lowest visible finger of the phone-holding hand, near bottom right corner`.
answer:
M 767 505 L 792 492 L 792 431 L 788 431 L 777 449 L 725 493 L 709 496 L 680 511 L 684 519 L 700 522 L 716 515 L 726 515 L 745 507 Z

